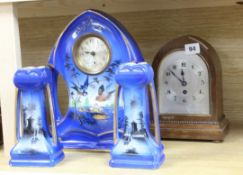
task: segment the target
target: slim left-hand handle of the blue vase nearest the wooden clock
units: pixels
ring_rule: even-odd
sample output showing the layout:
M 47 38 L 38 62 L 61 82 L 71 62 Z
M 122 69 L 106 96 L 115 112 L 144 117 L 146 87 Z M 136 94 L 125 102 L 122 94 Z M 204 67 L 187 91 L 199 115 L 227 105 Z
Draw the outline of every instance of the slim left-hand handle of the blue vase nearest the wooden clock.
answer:
M 116 92 L 115 92 L 115 102 L 114 102 L 114 114 L 113 114 L 113 140 L 114 144 L 117 143 L 117 137 L 118 137 L 118 107 L 119 107 L 119 97 L 120 97 L 120 91 L 121 87 L 119 85 L 116 85 Z

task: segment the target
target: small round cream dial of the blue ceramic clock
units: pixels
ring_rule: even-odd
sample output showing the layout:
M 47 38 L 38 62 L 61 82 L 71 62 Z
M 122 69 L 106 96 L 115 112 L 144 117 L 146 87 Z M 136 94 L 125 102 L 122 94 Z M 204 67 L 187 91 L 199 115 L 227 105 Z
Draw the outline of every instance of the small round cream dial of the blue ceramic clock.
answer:
M 110 63 L 110 49 L 98 36 L 80 38 L 73 49 L 74 61 L 87 74 L 98 74 Z

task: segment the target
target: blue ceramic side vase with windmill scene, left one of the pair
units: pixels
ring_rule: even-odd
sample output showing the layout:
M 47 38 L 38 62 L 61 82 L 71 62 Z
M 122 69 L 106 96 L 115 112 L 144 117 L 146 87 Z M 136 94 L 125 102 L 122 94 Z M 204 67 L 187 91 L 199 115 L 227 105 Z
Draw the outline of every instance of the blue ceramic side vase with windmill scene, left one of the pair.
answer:
M 11 166 L 54 166 L 64 158 L 63 147 L 56 136 L 54 116 L 52 128 L 48 127 L 46 116 L 45 90 L 52 81 L 47 67 L 25 68 L 15 73 L 17 144 L 10 153 Z

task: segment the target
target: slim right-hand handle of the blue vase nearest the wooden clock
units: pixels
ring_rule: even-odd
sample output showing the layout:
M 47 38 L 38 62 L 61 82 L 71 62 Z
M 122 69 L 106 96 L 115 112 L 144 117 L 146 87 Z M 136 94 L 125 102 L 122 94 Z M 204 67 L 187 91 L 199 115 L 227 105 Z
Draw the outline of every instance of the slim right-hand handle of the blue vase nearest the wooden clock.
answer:
M 152 108 L 153 108 L 153 117 L 154 117 L 154 132 L 155 132 L 155 139 L 157 143 L 160 143 L 160 128 L 159 128 L 159 114 L 158 114 L 158 106 L 157 106 L 157 99 L 156 99 L 156 92 L 154 83 L 151 82 L 149 84 L 149 90 L 151 93 L 152 98 Z

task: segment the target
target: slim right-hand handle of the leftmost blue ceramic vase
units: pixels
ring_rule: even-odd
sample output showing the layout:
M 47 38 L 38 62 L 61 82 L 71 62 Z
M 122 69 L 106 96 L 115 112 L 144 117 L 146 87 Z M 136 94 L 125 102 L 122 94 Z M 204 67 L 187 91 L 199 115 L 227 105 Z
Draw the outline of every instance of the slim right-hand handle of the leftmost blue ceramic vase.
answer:
M 56 122 L 55 122 L 55 117 L 54 117 L 54 110 L 53 110 L 53 102 L 51 98 L 51 89 L 50 86 L 46 86 L 46 92 L 48 96 L 48 101 L 49 101 L 49 109 L 50 109 L 50 118 L 51 118 L 51 133 L 52 133 L 52 139 L 53 143 L 55 146 L 57 146 L 57 132 L 56 132 Z

